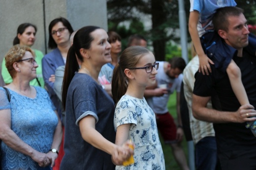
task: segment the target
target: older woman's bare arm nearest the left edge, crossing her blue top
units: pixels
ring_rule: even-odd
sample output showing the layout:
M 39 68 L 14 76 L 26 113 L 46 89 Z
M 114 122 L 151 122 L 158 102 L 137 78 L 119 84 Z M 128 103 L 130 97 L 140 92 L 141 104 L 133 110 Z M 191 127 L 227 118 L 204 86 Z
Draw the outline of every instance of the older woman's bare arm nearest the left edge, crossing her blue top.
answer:
M 49 159 L 45 153 L 38 152 L 30 145 L 23 142 L 11 130 L 11 111 L 10 109 L 0 110 L 0 139 L 12 149 L 30 156 L 39 166 L 45 166 L 44 163 L 49 163 Z

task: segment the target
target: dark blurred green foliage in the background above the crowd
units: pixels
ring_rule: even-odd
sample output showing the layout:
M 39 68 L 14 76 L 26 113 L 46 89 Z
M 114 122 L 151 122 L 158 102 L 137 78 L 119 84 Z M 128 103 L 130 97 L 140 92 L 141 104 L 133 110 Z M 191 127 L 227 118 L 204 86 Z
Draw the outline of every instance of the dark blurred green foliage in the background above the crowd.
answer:
M 244 9 L 248 24 L 255 25 L 256 0 L 236 2 Z M 184 6 L 188 23 L 190 1 L 184 0 Z M 178 0 L 107 0 L 107 11 L 108 29 L 120 34 L 123 49 L 127 47 L 128 37 L 137 33 L 148 40 L 157 60 L 181 57 Z M 150 27 L 145 28 L 145 23 L 150 23 Z M 189 32 L 187 35 L 190 42 Z

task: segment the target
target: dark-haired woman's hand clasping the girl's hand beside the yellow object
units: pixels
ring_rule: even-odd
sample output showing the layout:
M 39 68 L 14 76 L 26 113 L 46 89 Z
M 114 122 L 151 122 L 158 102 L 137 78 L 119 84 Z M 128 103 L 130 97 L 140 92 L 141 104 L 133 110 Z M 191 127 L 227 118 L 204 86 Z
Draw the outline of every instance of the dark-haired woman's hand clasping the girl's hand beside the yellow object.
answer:
M 115 165 L 123 165 L 123 162 L 128 160 L 128 158 L 134 154 L 133 150 L 129 147 L 129 145 L 133 145 L 134 143 L 127 141 L 122 146 L 118 146 L 114 149 L 111 158 L 112 162 Z

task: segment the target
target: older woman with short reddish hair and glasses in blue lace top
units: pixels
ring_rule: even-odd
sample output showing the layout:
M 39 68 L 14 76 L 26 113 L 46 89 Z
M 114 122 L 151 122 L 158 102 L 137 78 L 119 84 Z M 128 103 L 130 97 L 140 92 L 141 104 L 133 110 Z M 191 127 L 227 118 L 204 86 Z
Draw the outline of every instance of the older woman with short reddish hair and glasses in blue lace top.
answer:
M 2 169 L 51 170 L 62 127 L 46 90 L 30 85 L 38 67 L 34 53 L 27 46 L 15 45 L 4 58 L 13 82 L 5 86 L 7 90 L 0 87 Z

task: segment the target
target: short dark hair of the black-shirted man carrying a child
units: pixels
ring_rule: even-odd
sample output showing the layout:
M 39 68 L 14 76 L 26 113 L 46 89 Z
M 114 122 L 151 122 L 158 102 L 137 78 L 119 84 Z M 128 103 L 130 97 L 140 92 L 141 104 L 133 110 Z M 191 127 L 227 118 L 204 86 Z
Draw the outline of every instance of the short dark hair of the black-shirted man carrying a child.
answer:
M 227 18 L 230 16 L 240 16 L 243 14 L 244 10 L 238 8 L 236 6 L 225 6 L 222 8 L 218 8 L 213 15 L 213 26 L 214 29 L 218 32 L 218 30 L 224 30 L 228 32 L 228 20 Z

